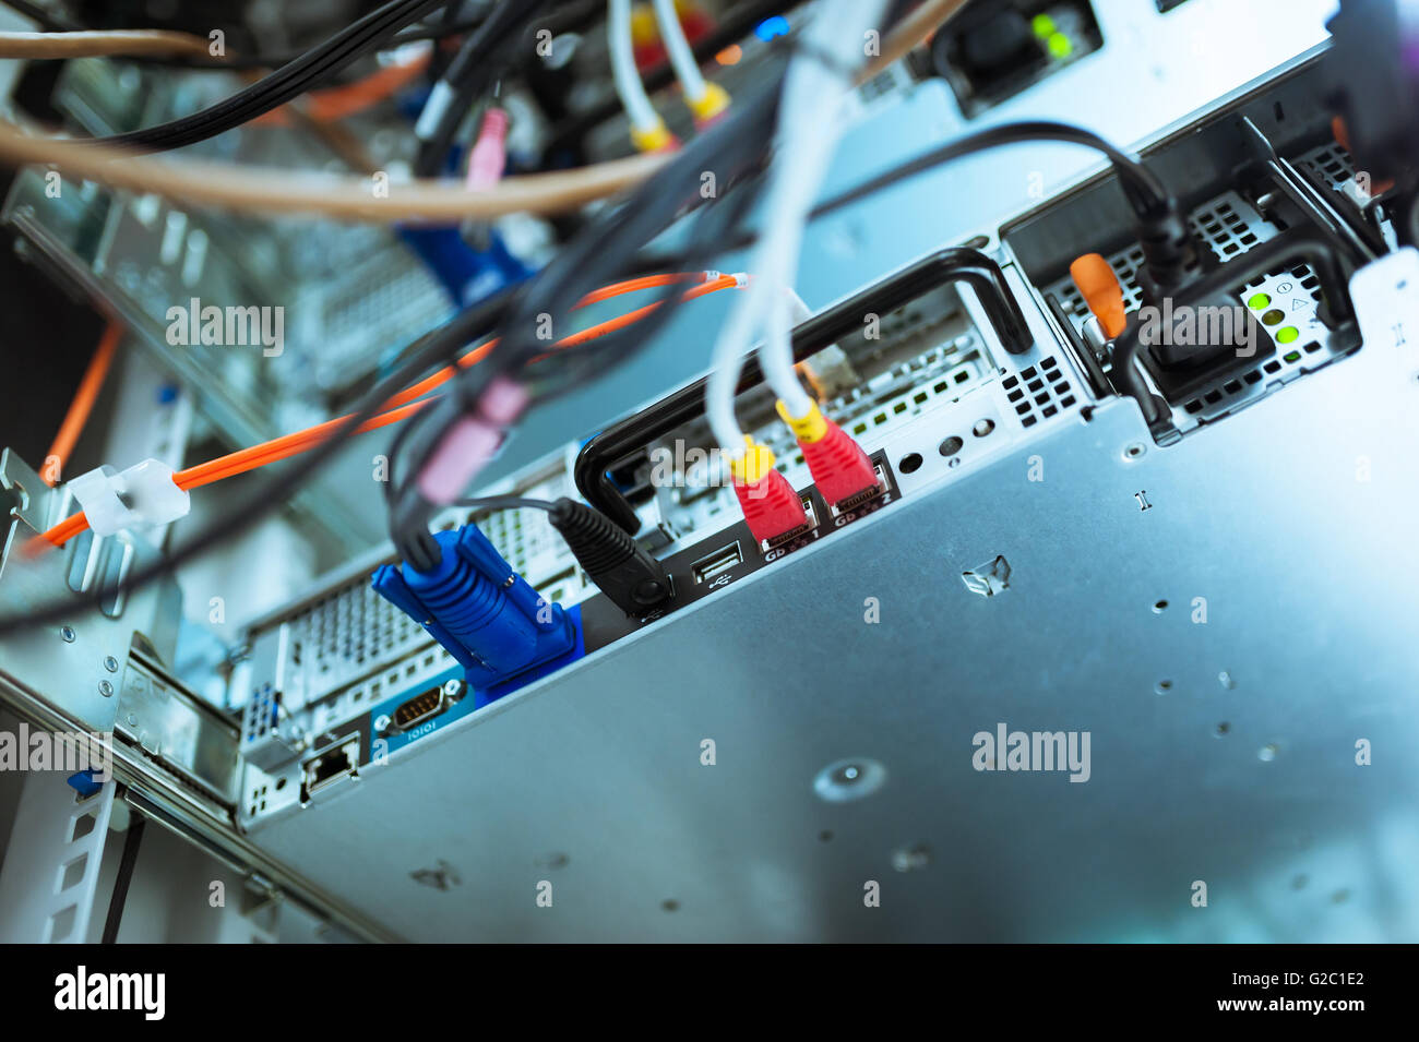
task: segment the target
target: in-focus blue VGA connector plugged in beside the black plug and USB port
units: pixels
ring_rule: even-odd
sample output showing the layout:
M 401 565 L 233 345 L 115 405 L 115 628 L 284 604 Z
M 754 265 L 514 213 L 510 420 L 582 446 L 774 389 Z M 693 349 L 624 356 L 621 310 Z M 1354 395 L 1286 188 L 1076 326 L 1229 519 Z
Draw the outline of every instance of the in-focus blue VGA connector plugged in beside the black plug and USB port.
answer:
M 585 654 L 576 608 L 538 594 L 477 526 L 434 540 L 433 570 L 383 564 L 373 586 L 454 656 L 480 705 Z

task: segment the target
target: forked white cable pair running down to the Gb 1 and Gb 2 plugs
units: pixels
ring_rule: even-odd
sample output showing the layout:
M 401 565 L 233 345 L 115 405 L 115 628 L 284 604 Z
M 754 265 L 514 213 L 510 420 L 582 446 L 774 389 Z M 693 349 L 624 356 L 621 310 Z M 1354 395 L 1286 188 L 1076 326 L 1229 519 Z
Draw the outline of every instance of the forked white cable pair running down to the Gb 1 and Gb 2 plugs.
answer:
M 705 414 L 721 449 L 739 458 L 744 431 L 734 417 L 734 388 L 744 352 L 756 333 L 766 339 L 759 363 L 773 393 L 792 415 L 806 415 L 812 398 L 793 371 L 792 306 L 789 291 L 797 274 L 803 227 L 823 184 L 839 136 L 839 103 L 847 69 L 863 64 L 867 31 L 877 27 L 887 0 L 823 0 L 807 26 L 805 54 L 789 65 L 779 105 L 773 169 L 765 193 L 765 228 L 755 274 L 745 296 L 729 315 L 715 342 L 705 388 Z

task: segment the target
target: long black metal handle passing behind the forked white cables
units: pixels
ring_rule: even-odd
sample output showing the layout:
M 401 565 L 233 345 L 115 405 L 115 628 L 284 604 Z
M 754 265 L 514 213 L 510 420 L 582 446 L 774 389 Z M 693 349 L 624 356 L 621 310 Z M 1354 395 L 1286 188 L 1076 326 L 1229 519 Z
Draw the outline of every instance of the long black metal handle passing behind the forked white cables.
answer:
M 981 299 L 990 327 L 1012 354 L 1023 354 L 1034 344 L 1034 336 L 1025 313 L 1005 281 L 1000 265 L 968 247 L 939 250 L 927 258 L 888 275 L 836 308 L 805 319 L 793 330 L 793 360 L 815 354 L 833 342 L 863 327 L 863 315 L 885 313 L 911 303 L 918 296 L 948 282 L 965 282 Z M 763 381 L 758 349 L 744 364 L 735 394 L 742 394 Z M 705 379 L 661 398 L 636 415 L 607 427 L 582 447 L 572 474 L 576 488 L 592 506 L 604 513 L 626 532 L 640 530 L 640 517 L 626 496 L 612 483 L 607 471 L 626 456 L 646 448 L 704 413 Z

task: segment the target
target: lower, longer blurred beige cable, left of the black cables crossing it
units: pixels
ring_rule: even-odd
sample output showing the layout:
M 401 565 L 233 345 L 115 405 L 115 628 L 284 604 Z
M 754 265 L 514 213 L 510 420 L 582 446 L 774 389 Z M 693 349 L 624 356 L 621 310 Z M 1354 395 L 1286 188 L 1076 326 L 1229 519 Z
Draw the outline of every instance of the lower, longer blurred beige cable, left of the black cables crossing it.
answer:
M 670 156 L 656 153 L 576 170 L 505 177 L 485 191 L 455 181 L 301 173 L 197 160 L 158 160 L 126 149 L 33 138 L 0 121 L 0 159 L 35 163 L 114 189 L 156 193 L 189 204 L 264 214 L 366 221 L 491 220 L 511 213 L 562 214 L 639 184 Z

